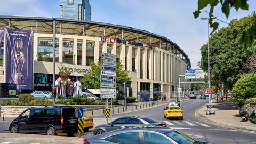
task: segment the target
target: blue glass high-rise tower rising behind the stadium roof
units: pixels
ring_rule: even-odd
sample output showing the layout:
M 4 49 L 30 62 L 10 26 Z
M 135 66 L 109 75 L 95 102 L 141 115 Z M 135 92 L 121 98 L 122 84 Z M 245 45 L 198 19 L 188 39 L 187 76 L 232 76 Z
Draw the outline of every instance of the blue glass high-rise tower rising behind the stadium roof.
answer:
M 60 18 L 91 21 L 89 0 L 60 0 Z

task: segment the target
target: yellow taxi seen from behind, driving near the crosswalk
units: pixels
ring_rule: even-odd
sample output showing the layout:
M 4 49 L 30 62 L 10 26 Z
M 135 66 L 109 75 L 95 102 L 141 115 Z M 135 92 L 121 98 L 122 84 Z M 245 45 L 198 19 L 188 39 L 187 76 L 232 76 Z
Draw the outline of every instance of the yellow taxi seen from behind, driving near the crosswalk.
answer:
M 183 119 L 183 111 L 179 106 L 167 106 L 164 108 L 164 117 L 166 119 L 173 117 L 173 118 L 180 118 Z

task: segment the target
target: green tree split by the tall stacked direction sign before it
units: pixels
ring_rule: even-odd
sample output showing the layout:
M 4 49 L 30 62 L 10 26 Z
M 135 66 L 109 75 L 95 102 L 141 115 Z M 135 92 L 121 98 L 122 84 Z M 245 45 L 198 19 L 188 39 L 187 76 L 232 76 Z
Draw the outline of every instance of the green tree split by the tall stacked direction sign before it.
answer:
M 121 61 L 122 62 L 122 61 Z M 124 65 L 121 62 L 116 63 L 116 89 L 124 86 L 124 82 L 131 81 L 131 77 L 128 77 L 127 70 L 122 70 Z M 100 89 L 100 63 L 99 60 L 97 64 L 92 62 L 89 68 L 90 73 L 84 74 L 81 82 L 85 87 L 94 87 L 95 89 Z

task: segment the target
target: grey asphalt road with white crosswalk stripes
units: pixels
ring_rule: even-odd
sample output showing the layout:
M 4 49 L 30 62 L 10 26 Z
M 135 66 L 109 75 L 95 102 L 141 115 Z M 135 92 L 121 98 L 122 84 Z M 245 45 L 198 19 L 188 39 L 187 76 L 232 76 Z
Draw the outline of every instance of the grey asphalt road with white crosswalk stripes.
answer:
M 189 137 L 198 141 L 207 141 L 211 143 L 256 143 L 256 132 L 243 131 L 239 129 L 231 129 L 230 127 L 215 125 L 196 116 L 197 109 L 205 106 L 208 100 L 188 99 L 181 101 L 181 109 L 183 110 L 184 119 L 166 119 L 163 117 L 164 105 L 150 107 L 143 110 L 131 111 L 127 113 L 114 114 L 113 119 L 122 116 L 145 116 L 151 117 L 161 122 L 165 122 L 168 127 L 181 131 Z M 94 119 L 103 119 L 103 116 L 94 116 Z M 9 121 L 0 122 L 0 132 L 9 132 L 6 127 Z M 92 131 L 85 133 L 84 137 L 92 137 Z M 1 143 L 1 142 L 0 142 Z

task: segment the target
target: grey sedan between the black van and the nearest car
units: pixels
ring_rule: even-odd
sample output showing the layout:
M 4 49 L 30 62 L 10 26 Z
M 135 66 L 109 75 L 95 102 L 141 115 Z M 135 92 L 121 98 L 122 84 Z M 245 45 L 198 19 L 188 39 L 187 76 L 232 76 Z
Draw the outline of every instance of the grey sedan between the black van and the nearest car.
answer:
M 115 121 L 109 124 L 102 124 L 102 125 L 96 126 L 95 129 L 93 130 L 93 135 L 99 135 L 109 131 L 121 129 L 123 127 L 132 127 L 132 126 L 165 126 L 166 127 L 166 123 L 161 123 L 148 117 L 134 117 L 134 116 L 120 117 L 115 119 Z

